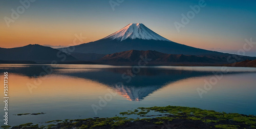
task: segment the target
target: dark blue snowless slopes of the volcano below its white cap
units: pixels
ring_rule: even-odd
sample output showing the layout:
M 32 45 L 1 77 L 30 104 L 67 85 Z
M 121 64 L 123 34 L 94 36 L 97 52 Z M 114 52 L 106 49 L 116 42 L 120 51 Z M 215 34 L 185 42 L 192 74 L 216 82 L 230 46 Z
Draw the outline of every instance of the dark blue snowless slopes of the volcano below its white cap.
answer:
M 61 49 L 59 49 L 61 50 Z M 208 51 L 181 45 L 172 41 L 163 40 L 144 40 L 130 39 L 119 41 L 117 39 L 100 39 L 87 44 L 75 46 L 76 53 L 96 53 L 96 54 L 112 54 L 129 50 L 153 50 L 168 54 L 185 54 L 185 55 L 201 55 L 201 54 L 223 54 L 220 52 Z

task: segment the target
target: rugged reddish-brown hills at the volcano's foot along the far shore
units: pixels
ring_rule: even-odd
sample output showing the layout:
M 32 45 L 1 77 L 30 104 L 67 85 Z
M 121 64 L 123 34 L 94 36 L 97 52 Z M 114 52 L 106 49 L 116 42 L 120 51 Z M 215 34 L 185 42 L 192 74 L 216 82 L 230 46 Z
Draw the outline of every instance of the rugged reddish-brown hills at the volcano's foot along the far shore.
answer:
M 141 56 L 152 59 L 148 61 L 152 65 L 175 65 L 175 66 L 219 66 L 227 64 L 229 55 L 183 55 L 183 54 L 166 54 L 157 51 L 138 51 L 130 50 L 119 53 L 113 53 L 105 55 L 104 57 L 96 60 L 97 62 L 103 62 L 108 64 L 135 64 Z M 241 56 L 241 60 L 246 60 L 246 56 Z M 251 57 L 253 58 L 253 57 Z M 254 57 L 255 59 L 256 57 Z M 235 59 L 235 57 L 229 58 Z

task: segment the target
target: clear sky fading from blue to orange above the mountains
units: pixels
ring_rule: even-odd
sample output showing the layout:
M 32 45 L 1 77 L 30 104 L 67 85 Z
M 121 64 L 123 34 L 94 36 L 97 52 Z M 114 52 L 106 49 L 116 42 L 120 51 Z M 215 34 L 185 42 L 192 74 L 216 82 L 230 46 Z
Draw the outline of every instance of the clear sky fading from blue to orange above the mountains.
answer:
M 255 7 L 255 0 L 0 0 L 0 47 L 58 48 L 73 45 L 77 35 L 82 44 L 142 23 L 179 44 L 256 56 Z M 182 15 L 189 22 L 182 23 Z M 182 27 L 177 29 L 177 23 Z M 244 49 L 250 38 L 252 47 Z

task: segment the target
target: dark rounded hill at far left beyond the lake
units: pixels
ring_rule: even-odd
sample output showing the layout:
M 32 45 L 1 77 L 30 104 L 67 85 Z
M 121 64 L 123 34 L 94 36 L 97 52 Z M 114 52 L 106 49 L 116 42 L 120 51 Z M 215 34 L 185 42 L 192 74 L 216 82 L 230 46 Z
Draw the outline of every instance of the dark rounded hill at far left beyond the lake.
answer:
M 59 55 L 59 57 L 57 56 Z M 57 49 L 40 45 L 27 45 L 18 48 L 0 48 L 0 60 L 6 61 L 35 61 L 51 62 L 53 60 L 61 61 L 66 55 L 65 61 L 76 61 L 71 55 L 67 55 Z

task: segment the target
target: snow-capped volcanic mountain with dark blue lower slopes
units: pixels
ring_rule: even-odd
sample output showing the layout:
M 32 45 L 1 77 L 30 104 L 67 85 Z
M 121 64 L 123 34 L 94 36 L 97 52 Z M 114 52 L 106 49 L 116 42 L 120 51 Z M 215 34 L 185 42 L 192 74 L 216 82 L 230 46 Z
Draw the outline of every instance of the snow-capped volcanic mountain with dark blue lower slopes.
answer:
M 129 24 L 100 40 L 75 46 L 76 53 L 112 54 L 129 50 L 155 50 L 167 54 L 224 54 L 170 41 L 143 24 Z M 63 49 L 63 48 L 62 48 Z M 59 49 L 59 50 L 62 50 Z

